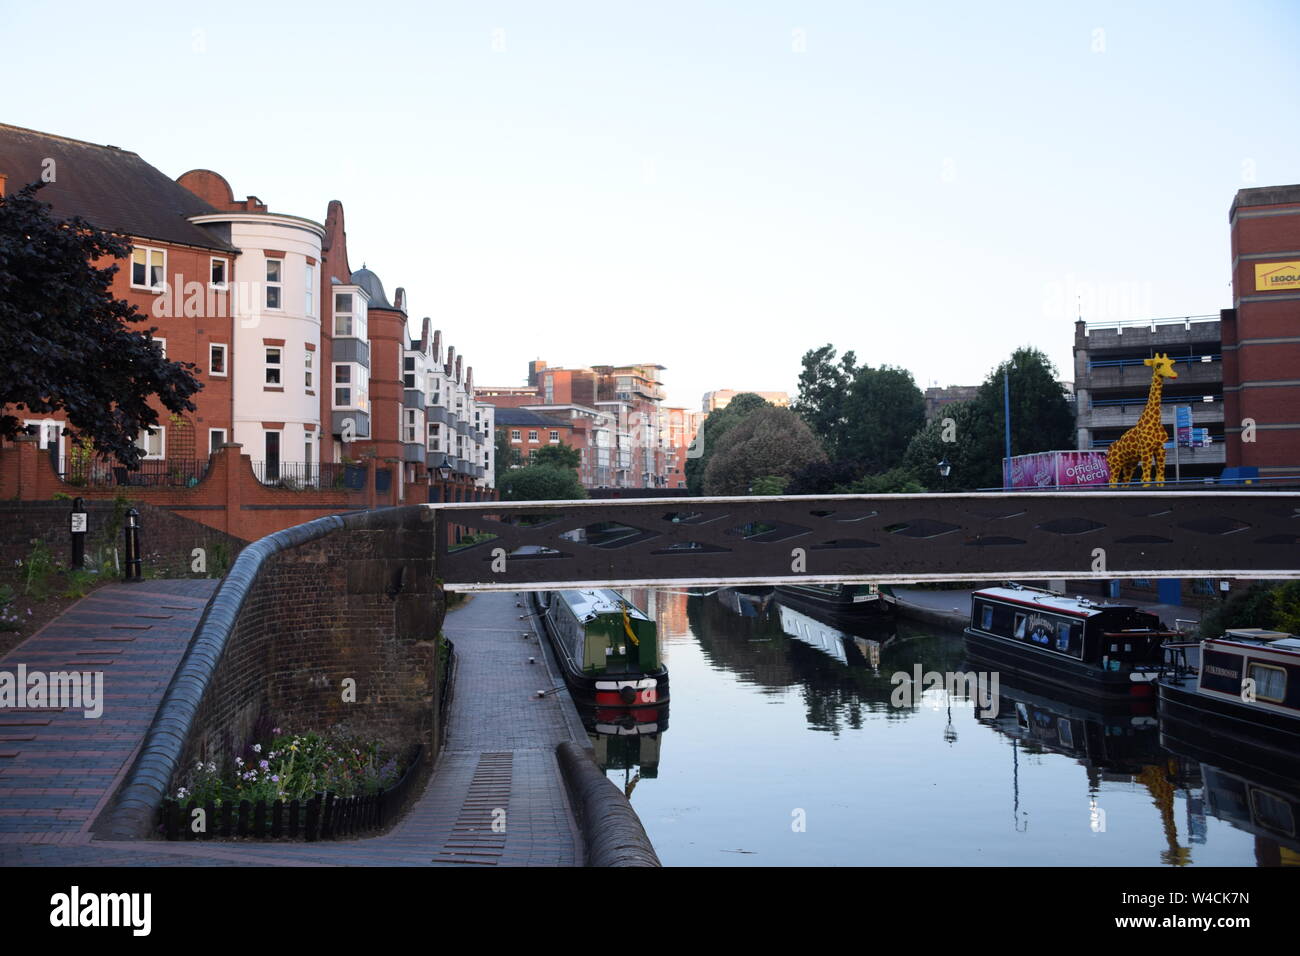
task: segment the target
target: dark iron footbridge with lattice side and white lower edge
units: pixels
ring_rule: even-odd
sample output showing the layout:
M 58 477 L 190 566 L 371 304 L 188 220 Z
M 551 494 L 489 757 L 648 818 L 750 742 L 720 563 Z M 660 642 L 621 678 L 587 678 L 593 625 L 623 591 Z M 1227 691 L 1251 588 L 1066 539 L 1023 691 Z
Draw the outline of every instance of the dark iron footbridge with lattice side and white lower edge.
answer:
M 446 591 L 1300 578 L 1300 493 L 1009 492 L 428 505 Z M 462 542 L 462 544 L 458 544 Z

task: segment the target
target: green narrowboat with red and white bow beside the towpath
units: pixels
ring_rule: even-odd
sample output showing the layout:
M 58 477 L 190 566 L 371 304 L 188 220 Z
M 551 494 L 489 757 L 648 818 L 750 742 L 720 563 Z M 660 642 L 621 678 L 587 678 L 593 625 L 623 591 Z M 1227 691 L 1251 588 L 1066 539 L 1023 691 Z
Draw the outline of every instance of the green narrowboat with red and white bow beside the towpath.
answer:
M 578 704 L 647 708 L 668 701 L 655 623 L 616 591 L 552 591 L 540 598 L 546 635 Z

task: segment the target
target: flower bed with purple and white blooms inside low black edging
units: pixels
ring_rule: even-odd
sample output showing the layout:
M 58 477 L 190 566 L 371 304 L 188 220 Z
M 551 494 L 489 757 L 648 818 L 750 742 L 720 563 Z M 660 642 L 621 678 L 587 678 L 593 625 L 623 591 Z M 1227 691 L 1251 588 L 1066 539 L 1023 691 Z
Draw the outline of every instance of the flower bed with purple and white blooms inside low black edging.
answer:
M 329 839 L 385 826 L 416 779 L 407 760 L 343 735 L 282 734 L 218 767 L 199 761 L 162 804 L 166 838 Z

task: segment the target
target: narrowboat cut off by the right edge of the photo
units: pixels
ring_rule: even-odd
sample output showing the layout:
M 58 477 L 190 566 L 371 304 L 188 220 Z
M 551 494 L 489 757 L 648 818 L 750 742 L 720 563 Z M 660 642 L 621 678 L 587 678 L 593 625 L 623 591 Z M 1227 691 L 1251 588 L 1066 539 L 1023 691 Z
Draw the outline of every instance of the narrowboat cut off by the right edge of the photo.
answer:
M 1221 752 L 1300 774 L 1300 637 L 1234 628 L 1199 650 L 1195 662 L 1184 648 L 1167 650 L 1158 684 L 1165 732 L 1190 743 L 1208 736 Z

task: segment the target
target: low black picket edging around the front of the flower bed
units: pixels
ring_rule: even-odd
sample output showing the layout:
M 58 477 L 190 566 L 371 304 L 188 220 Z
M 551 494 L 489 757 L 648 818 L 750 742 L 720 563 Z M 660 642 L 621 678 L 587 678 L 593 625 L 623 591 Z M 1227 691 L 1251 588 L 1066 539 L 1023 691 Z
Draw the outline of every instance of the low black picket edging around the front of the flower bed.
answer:
M 190 800 L 164 800 L 160 829 L 169 840 L 212 840 L 243 836 L 270 840 L 329 840 L 352 836 L 367 830 L 381 830 L 402 810 L 411 790 L 420 779 L 420 758 L 424 748 L 417 747 L 411 756 L 402 779 L 389 790 L 343 797 L 337 793 L 316 793 L 306 800 L 276 800 L 238 804 L 200 804 Z M 202 813 L 199 813 L 202 810 Z M 202 826 L 199 826 L 202 821 Z

